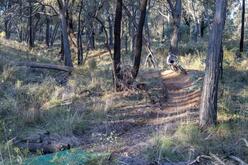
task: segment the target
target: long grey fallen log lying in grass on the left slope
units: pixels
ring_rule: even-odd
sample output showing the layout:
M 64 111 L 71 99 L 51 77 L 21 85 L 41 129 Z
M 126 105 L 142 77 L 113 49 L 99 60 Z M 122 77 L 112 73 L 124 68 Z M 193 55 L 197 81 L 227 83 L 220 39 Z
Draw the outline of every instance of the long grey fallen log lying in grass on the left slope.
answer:
M 43 69 L 53 69 L 65 72 L 72 72 L 73 68 L 68 66 L 61 66 L 55 64 L 37 63 L 37 62 L 18 62 L 15 63 L 16 66 L 26 66 L 30 68 L 43 68 Z

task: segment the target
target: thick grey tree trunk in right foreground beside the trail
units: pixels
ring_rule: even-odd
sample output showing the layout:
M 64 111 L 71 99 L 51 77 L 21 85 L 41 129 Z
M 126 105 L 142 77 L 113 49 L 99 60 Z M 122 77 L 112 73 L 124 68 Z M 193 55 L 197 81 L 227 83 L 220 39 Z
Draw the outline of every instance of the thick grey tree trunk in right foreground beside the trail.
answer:
M 221 43 L 227 0 L 216 0 L 214 22 L 209 35 L 208 56 L 200 105 L 200 126 L 205 128 L 217 123 L 217 94 Z

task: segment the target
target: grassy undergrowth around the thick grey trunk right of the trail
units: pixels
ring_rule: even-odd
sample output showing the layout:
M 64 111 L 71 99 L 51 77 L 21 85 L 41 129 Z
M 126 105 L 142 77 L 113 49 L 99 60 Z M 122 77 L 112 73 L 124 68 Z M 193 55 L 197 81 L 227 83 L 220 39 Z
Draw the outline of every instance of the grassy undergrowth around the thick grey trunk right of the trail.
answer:
M 190 69 L 204 70 L 204 56 L 182 57 Z M 189 62 L 189 60 L 191 62 Z M 235 52 L 225 50 L 224 73 L 220 80 L 218 125 L 201 130 L 197 123 L 182 123 L 173 135 L 159 134 L 154 145 L 145 152 L 152 162 L 188 162 L 207 155 L 212 164 L 235 164 L 231 156 L 248 162 L 248 58 L 235 58 Z M 187 65 L 188 66 L 188 65 Z M 217 161 L 217 162 L 216 162 Z M 209 162 L 209 160 L 208 160 Z M 201 159 L 204 164 L 204 159 Z M 237 162 L 236 162 L 237 163 Z

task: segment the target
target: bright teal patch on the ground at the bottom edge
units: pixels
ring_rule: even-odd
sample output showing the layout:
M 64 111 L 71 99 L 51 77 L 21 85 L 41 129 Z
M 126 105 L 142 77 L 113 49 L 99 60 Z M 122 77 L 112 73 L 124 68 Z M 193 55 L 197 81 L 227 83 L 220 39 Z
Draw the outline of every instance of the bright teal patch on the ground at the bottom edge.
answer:
M 71 149 L 29 158 L 23 162 L 23 165 L 85 165 L 108 156 L 108 153 L 90 153 L 81 149 Z

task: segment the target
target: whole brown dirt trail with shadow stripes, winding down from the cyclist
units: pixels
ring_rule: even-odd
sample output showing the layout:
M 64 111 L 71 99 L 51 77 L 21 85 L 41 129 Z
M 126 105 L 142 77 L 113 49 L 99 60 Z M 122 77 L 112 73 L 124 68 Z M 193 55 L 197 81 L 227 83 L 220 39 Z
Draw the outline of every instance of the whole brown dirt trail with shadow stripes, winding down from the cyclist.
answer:
M 146 103 L 117 107 L 108 114 L 110 116 L 108 121 L 92 130 L 92 132 L 97 132 L 104 129 L 105 132 L 114 132 L 117 141 L 101 141 L 97 145 L 99 138 L 91 138 L 83 148 L 116 153 L 118 157 L 138 158 L 139 154 L 152 144 L 152 139 L 157 134 L 171 134 L 179 123 L 197 119 L 200 90 L 194 88 L 195 83 L 193 81 L 195 80 L 192 79 L 196 74 L 197 71 L 189 71 L 188 75 L 172 71 L 142 74 L 142 79 L 145 82 L 146 80 L 147 82 L 151 80 L 161 81 L 152 88 L 161 89 L 162 86 L 165 86 L 167 88 L 167 100 L 160 104 Z M 94 147 L 90 147 L 91 144 L 94 144 Z

